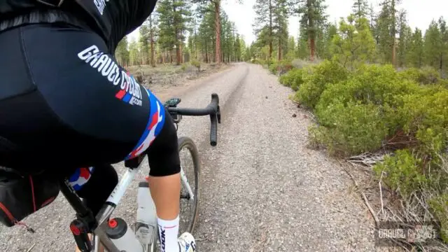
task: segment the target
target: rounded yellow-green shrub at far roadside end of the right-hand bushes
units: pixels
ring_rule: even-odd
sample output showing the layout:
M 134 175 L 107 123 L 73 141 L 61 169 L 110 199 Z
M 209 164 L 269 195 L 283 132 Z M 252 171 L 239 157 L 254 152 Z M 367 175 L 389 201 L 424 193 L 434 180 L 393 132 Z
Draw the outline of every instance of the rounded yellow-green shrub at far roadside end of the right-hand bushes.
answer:
M 314 109 L 328 85 L 344 81 L 348 76 L 349 72 L 342 65 L 325 60 L 312 67 L 312 73 L 304 78 L 304 83 L 297 91 L 295 99 L 304 106 Z

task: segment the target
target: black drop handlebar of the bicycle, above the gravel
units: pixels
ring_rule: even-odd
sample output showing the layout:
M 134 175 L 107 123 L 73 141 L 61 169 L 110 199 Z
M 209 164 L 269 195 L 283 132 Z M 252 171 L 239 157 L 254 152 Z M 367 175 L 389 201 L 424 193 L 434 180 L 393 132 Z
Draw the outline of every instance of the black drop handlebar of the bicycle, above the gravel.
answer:
M 221 123 L 221 110 L 219 108 L 218 94 L 211 94 L 211 102 L 205 109 L 188 109 L 168 107 L 170 113 L 182 116 L 207 116 L 210 115 L 210 144 L 216 146 L 218 142 L 218 123 Z

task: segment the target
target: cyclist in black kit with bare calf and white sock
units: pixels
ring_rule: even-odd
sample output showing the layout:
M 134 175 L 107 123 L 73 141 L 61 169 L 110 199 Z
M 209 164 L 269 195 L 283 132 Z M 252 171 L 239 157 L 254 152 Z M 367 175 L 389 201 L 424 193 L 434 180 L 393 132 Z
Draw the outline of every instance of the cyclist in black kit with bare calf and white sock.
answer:
M 109 164 L 146 152 L 162 250 L 192 252 L 193 236 L 177 237 L 173 120 L 113 56 L 156 1 L 0 1 L 0 137 L 17 146 L 0 165 L 69 178 L 96 215 L 118 183 Z

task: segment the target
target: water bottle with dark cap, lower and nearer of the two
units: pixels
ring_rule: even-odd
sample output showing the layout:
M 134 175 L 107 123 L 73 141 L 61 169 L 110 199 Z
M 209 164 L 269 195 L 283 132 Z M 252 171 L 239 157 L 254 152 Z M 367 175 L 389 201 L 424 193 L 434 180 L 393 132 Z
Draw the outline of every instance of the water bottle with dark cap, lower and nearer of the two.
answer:
M 122 218 L 111 219 L 107 225 L 106 234 L 121 252 L 145 251 L 144 246 Z

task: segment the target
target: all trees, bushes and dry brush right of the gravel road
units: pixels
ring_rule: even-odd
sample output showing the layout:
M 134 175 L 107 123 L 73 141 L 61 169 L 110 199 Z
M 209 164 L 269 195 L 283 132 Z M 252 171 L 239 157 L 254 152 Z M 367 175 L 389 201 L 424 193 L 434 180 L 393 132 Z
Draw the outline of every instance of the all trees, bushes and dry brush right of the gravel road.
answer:
M 257 1 L 261 22 L 249 62 L 279 76 L 297 106 L 315 116 L 312 147 L 374 179 L 359 185 L 352 176 L 377 224 L 438 222 L 437 251 L 448 251 L 446 21 L 437 18 L 423 32 L 407 25 L 400 1 L 383 1 L 375 12 L 355 0 L 353 13 L 333 24 L 323 0 L 301 2 Z M 297 39 L 286 32 L 291 14 L 301 17 Z M 377 199 L 366 197 L 372 188 Z

